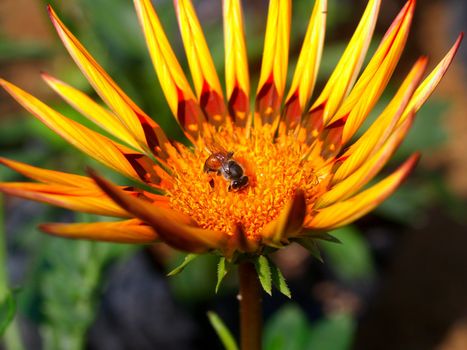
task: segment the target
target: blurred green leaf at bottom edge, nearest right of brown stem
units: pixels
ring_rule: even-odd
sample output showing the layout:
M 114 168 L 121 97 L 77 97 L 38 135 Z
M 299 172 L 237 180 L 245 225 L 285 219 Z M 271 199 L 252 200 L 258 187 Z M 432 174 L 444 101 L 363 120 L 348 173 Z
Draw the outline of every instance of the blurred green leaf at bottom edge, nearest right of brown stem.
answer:
M 303 350 L 309 341 L 309 333 L 310 324 L 303 311 L 295 304 L 285 304 L 266 323 L 264 349 Z

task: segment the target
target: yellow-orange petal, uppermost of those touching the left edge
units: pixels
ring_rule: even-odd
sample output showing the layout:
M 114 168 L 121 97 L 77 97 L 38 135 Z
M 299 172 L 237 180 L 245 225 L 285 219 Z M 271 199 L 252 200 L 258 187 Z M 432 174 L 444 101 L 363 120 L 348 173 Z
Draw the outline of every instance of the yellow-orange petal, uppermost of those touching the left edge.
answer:
M 135 152 L 64 117 L 17 86 L 4 80 L 0 80 L 0 84 L 18 103 L 73 146 L 108 167 L 128 177 L 141 180 L 125 156 L 125 154 L 134 154 Z

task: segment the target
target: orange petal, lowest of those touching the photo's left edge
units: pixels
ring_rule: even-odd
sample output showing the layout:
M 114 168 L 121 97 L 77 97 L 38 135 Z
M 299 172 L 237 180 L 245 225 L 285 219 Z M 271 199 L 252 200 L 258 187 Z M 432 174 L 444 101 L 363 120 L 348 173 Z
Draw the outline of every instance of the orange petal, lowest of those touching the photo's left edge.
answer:
M 104 216 L 129 217 L 102 191 L 30 182 L 0 183 L 0 192 L 73 211 Z

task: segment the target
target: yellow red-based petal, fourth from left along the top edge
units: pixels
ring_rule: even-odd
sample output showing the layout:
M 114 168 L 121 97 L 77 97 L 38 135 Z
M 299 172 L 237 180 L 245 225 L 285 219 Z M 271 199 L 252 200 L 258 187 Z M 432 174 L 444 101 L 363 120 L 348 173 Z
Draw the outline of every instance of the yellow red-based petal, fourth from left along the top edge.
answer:
M 289 59 L 290 0 L 269 3 L 263 61 L 256 93 L 255 123 L 277 124 L 287 78 Z

